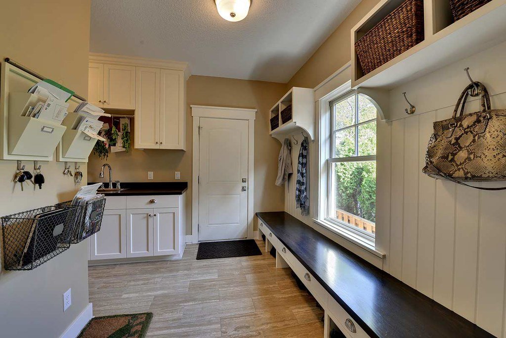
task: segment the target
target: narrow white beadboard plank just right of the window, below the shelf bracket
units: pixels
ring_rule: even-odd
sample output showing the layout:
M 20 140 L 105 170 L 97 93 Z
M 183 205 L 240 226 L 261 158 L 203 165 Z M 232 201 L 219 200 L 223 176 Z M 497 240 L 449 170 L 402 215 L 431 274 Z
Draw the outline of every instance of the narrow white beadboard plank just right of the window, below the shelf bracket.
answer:
M 378 159 L 383 161 L 383 159 Z M 379 178 L 381 179 L 381 178 Z M 402 280 L 404 223 L 404 120 L 392 122 L 392 182 L 390 187 L 389 273 Z

